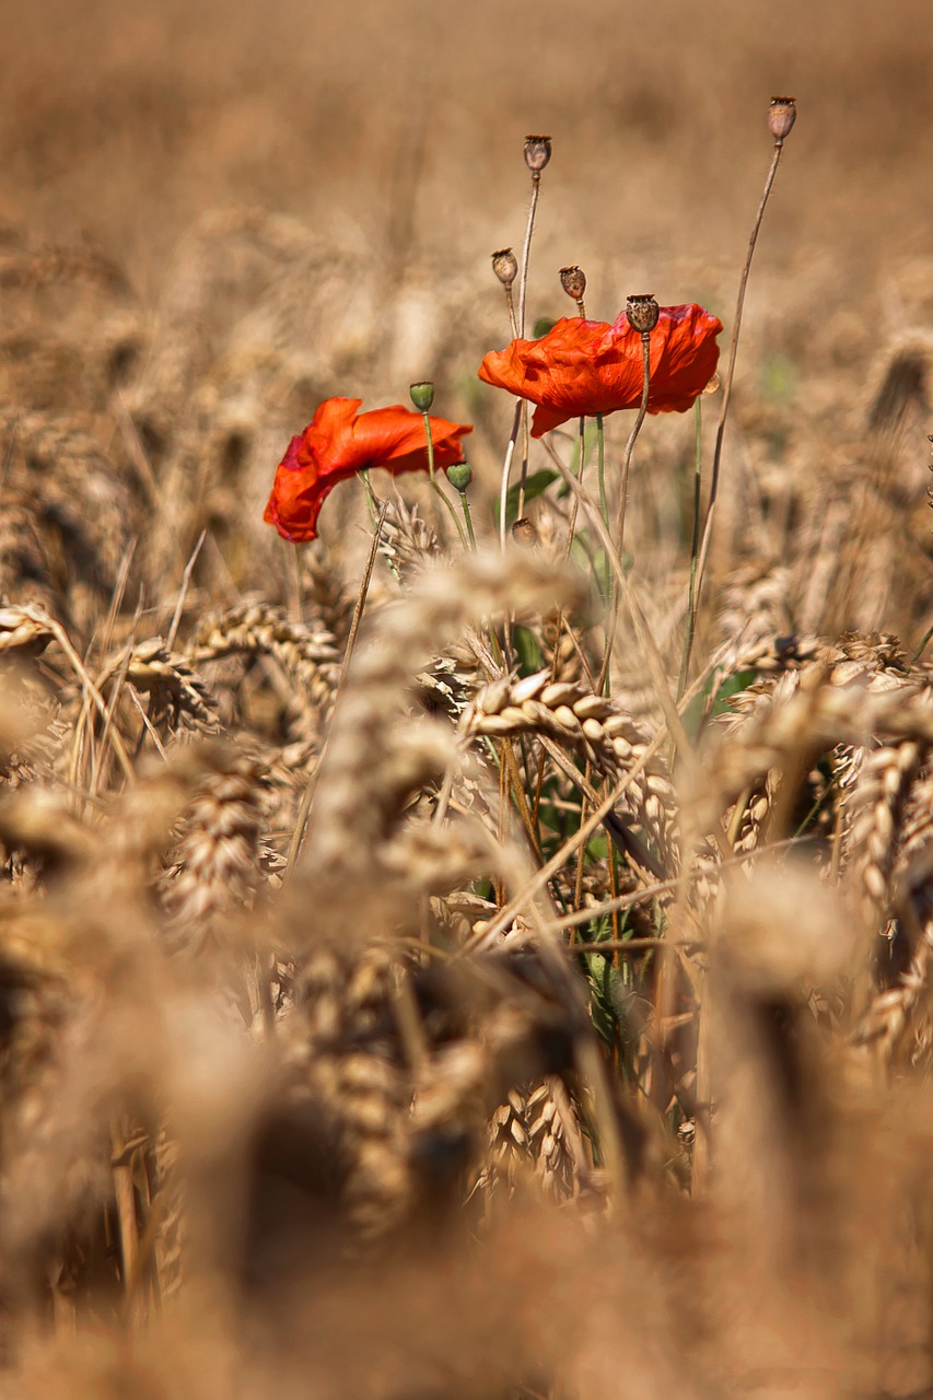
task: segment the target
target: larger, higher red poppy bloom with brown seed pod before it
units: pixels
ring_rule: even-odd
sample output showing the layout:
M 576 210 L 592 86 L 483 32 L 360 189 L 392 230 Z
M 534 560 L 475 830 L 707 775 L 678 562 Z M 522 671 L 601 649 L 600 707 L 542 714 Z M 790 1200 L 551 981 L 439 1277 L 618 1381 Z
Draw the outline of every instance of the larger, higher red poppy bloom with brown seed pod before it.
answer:
M 661 307 L 651 332 L 649 413 L 684 413 L 713 378 L 721 321 L 702 307 Z M 537 403 L 531 435 L 567 419 L 637 409 L 642 402 L 642 336 L 625 312 L 605 321 L 562 319 L 541 340 L 513 340 L 492 350 L 479 378 Z

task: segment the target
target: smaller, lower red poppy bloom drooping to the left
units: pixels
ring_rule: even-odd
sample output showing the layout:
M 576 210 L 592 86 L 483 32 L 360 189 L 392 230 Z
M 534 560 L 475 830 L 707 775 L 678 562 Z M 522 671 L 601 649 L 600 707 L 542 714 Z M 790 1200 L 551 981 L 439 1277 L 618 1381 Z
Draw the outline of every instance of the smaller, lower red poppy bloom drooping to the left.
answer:
M 325 497 L 338 482 L 370 466 L 426 472 L 427 434 L 420 413 L 394 403 L 360 413 L 361 399 L 325 399 L 301 437 L 291 438 L 276 469 L 272 496 L 262 517 L 283 539 L 304 543 L 317 538 Z M 472 428 L 431 419 L 434 466 L 462 462 L 461 437 Z

